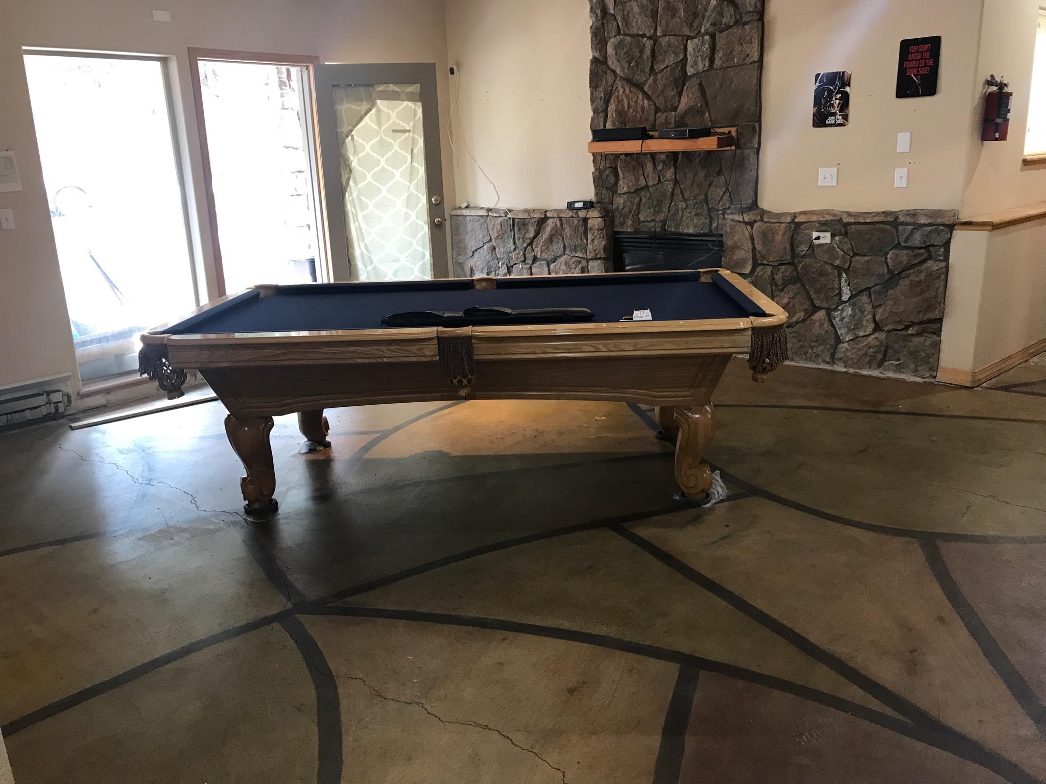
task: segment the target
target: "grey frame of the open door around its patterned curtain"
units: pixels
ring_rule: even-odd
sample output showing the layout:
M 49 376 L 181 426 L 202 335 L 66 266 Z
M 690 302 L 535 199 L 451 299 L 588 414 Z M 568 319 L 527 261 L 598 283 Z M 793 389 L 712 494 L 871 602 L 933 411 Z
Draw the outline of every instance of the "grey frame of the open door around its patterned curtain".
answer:
M 351 80 L 341 82 L 336 72 L 350 71 Z M 451 277 L 451 263 L 447 252 L 446 232 L 447 200 L 444 194 L 444 165 L 439 138 L 439 95 L 435 63 L 323 63 L 315 69 L 313 90 L 316 93 L 316 133 L 320 137 L 319 167 L 322 188 L 324 223 L 327 233 L 328 261 L 332 280 L 351 280 L 348 243 L 345 237 L 345 194 L 341 188 L 338 163 L 338 138 L 331 89 L 337 84 L 378 85 L 415 84 L 424 96 L 430 96 L 432 111 L 423 111 L 422 126 L 425 133 L 426 225 L 429 231 L 429 253 L 432 258 L 432 277 Z M 331 187 L 333 185 L 333 187 Z M 431 197 L 439 197 L 439 203 Z M 439 224 L 434 224 L 438 218 Z M 435 229 L 433 227 L 436 227 Z

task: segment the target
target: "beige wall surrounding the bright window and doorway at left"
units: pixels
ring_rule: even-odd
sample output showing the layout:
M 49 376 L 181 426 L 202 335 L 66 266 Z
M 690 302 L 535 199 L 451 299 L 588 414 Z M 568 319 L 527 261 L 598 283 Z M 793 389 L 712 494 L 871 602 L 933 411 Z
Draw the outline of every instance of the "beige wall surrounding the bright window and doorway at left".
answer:
M 172 22 L 152 20 L 167 8 Z M 326 62 L 435 62 L 449 106 L 442 0 L 32 0 L 4 3 L 0 23 L 0 149 L 18 154 L 24 190 L 0 193 L 17 229 L 0 232 L 0 387 L 74 372 L 75 362 L 22 62 L 23 46 L 145 52 L 174 60 L 190 218 L 212 295 L 196 114 L 186 48 L 316 54 Z M 442 140 L 445 171 L 450 149 Z M 446 195 L 453 181 L 445 175 Z

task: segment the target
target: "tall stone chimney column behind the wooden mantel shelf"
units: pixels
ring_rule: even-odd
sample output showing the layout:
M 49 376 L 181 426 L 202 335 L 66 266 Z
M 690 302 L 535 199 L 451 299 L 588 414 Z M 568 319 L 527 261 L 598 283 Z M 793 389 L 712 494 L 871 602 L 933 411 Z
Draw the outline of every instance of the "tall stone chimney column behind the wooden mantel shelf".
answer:
M 755 203 L 761 0 L 590 0 L 592 128 L 737 126 L 737 149 L 597 155 L 616 231 L 719 231 Z

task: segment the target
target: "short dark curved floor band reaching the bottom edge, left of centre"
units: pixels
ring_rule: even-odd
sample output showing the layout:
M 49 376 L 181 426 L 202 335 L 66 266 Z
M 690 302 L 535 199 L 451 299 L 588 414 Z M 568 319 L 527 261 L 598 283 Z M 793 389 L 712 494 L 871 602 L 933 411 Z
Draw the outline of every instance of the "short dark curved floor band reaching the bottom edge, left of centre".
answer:
M 323 649 L 300 619 L 287 616 L 279 624 L 304 660 L 316 691 L 316 784 L 340 784 L 344 760 L 338 679 L 331 671 Z

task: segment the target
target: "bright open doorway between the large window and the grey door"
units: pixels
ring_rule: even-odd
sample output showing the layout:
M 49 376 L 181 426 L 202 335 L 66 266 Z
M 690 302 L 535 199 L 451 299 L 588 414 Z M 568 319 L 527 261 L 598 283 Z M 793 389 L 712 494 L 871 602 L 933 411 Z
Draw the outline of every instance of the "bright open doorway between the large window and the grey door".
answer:
M 326 280 L 316 57 L 189 49 L 219 294 Z

